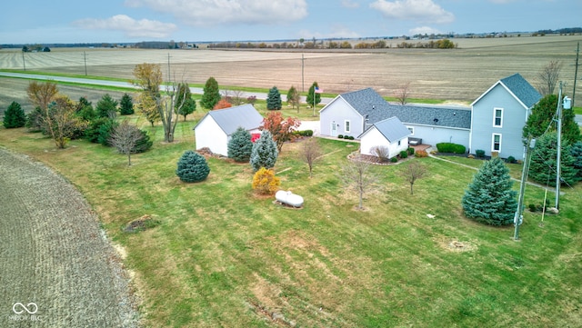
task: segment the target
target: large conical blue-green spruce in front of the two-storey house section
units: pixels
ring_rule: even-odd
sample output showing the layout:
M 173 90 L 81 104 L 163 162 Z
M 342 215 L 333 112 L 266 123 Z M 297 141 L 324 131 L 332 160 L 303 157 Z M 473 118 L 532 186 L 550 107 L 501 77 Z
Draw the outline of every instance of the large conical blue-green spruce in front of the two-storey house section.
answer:
M 517 209 L 517 192 L 509 169 L 499 157 L 485 162 L 468 185 L 461 201 L 468 218 L 491 225 L 513 223 Z

